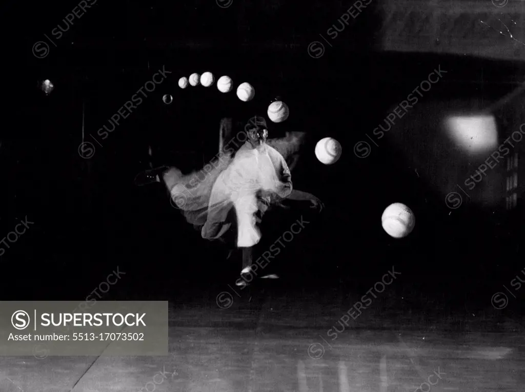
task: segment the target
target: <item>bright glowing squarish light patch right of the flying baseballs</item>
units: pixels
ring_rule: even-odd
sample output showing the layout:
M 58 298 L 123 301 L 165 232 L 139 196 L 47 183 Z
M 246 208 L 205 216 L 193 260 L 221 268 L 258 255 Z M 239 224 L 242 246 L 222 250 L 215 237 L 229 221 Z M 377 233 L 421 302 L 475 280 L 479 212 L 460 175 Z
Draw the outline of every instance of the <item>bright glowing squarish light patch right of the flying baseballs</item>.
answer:
M 450 116 L 448 134 L 468 153 L 480 153 L 498 146 L 496 120 L 491 115 Z

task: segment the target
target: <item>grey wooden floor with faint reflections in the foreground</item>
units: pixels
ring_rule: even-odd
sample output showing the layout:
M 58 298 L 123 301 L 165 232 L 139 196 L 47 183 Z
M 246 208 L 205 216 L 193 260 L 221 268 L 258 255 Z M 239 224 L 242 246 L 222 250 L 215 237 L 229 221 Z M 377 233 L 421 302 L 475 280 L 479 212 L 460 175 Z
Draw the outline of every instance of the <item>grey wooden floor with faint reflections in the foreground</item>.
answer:
M 170 303 L 166 357 L 0 357 L 0 392 L 524 390 L 523 319 L 494 329 L 472 317 L 451 331 L 447 320 L 419 324 L 378 307 L 332 341 L 340 304 L 241 300 Z

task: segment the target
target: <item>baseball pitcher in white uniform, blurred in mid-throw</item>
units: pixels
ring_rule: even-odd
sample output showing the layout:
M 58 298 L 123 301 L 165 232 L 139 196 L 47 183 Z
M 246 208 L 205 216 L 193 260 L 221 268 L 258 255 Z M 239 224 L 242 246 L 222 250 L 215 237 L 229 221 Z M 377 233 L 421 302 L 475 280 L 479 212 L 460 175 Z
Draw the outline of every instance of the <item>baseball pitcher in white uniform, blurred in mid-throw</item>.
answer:
M 181 210 L 203 238 L 229 243 L 228 233 L 234 234 L 235 247 L 243 253 L 243 279 L 236 284 L 245 285 L 251 280 L 245 278 L 253 265 L 253 246 L 261 238 L 256 225 L 261 222 L 262 215 L 269 208 L 290 208 L 285 206 L 288 201 L 296 205 L 306 202 L 319 211 L 323 204 L 314 195 L 292 190 L 290 168 L 285 158 L 291 160 L 292 166 L 297 162 L 302 133 L 267 140 L 266 121 L 260 117 L 251 118 L 235 140 L 232 131 L 232 121 L 223 119 L 219 154 L 201 171 L 183 175 L 176 167 L 163 166 L 139 173 L 135 183 L 163 182 L 172 198 L 172 206 Z M 241 134 L 244 139 L 239 139 Z M 235 141 L 244 141 L 244 144 Z M 276 276 L 259 278 L 264 277 Z

